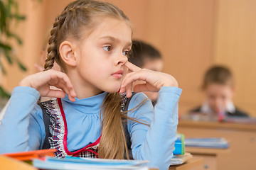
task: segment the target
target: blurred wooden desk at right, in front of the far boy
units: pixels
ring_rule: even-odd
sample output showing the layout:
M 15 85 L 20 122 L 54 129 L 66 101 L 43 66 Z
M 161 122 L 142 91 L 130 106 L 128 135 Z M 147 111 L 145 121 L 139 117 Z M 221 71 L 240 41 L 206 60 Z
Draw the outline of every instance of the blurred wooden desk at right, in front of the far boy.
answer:
M 256 169 L 256 125 L 179 120 L 178 132 L 184 134 L 185 139 L 224 137 L 228 140 L 229 151 L 218 153 L 215 164 L 218 170 Z M 188 150 L 186 149 L 186 152 Z M 195 150 L 193 151 L 195 154 Z M 208 150 L 208 154 L 213 153 Z

